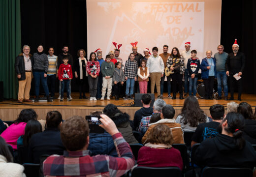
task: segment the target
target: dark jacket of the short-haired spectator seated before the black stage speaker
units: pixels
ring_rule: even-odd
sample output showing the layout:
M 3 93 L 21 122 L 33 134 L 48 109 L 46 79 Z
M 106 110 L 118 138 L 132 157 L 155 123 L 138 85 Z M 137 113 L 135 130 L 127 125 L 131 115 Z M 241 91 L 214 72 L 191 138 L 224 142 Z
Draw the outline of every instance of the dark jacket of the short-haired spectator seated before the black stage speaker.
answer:
M 151 116 L 153 114 L 153 108 L 149 107 L 149 108 L 140 108 L 139 110 L 137 110 L 134 114 L 134 118 L 133 118 L 133 125 L 135 130 L 137 131 L 139 128 L 139 124 L 140 121 L 143 117 L 146 116 Z

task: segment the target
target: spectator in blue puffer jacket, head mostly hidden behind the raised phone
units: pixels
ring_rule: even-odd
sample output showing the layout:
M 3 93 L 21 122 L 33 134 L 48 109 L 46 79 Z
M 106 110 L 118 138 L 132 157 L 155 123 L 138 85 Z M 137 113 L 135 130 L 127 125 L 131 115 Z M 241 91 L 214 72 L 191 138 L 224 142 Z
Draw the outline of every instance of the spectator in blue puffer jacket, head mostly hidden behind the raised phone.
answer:
M 90 116 L 100 116 L 102 111 L 95 111 Z M 90 143 L 88 150 L 91 151 L 91 155 L 106 154 L 117 156 L 116 147 L 112 136 L 108 132 L 104 133 L 89 133 Z

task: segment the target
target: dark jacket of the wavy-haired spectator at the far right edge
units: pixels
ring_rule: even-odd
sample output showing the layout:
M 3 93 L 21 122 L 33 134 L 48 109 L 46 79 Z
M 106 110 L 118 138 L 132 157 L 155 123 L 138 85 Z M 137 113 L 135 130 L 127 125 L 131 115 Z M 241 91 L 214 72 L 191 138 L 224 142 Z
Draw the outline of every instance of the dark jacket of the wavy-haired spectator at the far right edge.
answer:
M 256 145 L 256 120 L 245 119 L 243 137 L 252 145 Z

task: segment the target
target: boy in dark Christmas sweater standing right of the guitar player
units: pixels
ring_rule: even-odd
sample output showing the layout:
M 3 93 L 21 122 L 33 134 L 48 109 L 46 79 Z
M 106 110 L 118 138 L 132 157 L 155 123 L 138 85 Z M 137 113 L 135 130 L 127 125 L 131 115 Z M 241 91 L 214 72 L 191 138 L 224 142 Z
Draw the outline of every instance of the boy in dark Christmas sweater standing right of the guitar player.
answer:
M 196 50 L 191 51 L 191 58 L 188 59 L 187 64 L 188 72 L 189 72 L 189 94 L 193 96 L 196 94 L 196 87 L 197 87 L 197 77 L 198 77 L 198 71 L 200 69 L 200 60 L 196 58 Z

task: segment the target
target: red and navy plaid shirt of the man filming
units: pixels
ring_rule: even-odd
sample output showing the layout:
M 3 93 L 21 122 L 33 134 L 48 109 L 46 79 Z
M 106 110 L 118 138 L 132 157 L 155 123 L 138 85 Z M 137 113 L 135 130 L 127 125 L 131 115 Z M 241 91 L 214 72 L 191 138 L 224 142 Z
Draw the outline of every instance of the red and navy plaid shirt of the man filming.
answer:
M 112 136 L 118 156 L 90 156 L 89 150 L 64 151 L 43 162 L 45 177 L 120 177 L 134 166 L 134 156 L 121 133 Z

